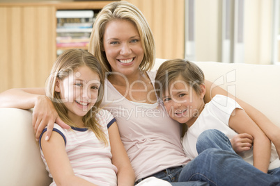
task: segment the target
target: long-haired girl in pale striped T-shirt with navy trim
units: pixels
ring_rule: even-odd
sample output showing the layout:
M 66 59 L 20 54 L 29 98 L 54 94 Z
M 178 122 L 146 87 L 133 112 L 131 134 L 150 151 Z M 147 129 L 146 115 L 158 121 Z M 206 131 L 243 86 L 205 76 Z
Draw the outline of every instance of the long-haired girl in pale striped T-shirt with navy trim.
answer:
M 57 58 L 46 95 L 71 128 L 54 124 L 40 135 L 42 160 L 51 185 L 133 185 L 134 171 L 120 141 L 116 119 L 99 105 L 104 73 L 87 51 L 70 49 Z M 44 140 L 42 140 L 44 139 Z

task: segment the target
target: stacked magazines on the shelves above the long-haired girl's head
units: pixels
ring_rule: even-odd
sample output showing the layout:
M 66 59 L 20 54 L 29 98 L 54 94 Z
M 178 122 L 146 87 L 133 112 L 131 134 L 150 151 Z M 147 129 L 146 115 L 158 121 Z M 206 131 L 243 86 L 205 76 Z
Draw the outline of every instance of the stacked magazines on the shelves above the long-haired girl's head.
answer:
M 69 48 L 88 49 L 93 22 L 93 10 L 56 11 L 56 54 Z

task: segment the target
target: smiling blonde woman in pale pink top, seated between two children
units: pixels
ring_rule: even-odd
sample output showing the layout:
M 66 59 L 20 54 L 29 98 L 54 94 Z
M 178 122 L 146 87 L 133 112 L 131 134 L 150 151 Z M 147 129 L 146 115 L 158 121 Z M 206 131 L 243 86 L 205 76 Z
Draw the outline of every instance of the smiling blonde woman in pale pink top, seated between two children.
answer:
M 95 20 L 89 51 L 102 62 L 107 72 L 102 106 L 116 118 L 137 183 L 149 176 L 168 180 L 172 185 L 204 184 L 189 183 L 190 180 L 207 181 L 210 185 L 272 185 L 279 182 L 279 178 L 263 174 L 250 164 L 244 164 L 235 153 L 222 149 L 205 149 L 189 162 L 180 144 L 178 123 L 168 117 L 155 95 L 155 73 L 148 71 L 155 61 L 155 43 L 148 23 L 138 8 L 125 1 L 105 6 Z M 210 87 L 209 84 L 206 82 L 207 87 Z M 1 107 L 34 107 L 36 138 L 46 124 L 47 136 L 50 137 L 54 121 L 62 127 L 67 126 L 59 119 L 44 94 L 43 89 L 8 90 L 0 96 Z M 227 92 L 221 88 L 211 92 L 207 90 L 205 102 L 215 94 Z M 256 112 L 254 108 L 240 100 L 238 103 L 256 123 L 270 122 L 263 115 L 260 117 L 260 113 L 255 118 L 255 115 L 251 115 Z M 217 139 L 221 140 L 215 135 L 211 136 L 213 144 Z M 244 144 L 251 142 L 246 137 Z M 242 148 L 238 150 L 244 151 Z M 240 178 L 236 179 L 234 174 Z M 178 181 L 179 175 L 180 183 L 174 183 Z

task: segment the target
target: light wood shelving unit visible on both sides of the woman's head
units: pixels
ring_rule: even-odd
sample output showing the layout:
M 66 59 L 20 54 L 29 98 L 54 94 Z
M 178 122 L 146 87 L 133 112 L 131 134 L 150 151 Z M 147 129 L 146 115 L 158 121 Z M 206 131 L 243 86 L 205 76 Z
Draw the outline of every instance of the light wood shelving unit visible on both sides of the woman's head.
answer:
M 184 58 L 184 0 L 127 0 L 153 31 L 157 58 Z M 0 92 L 44 87 L 56 60 L 57 10 L 93 10 L 112 1 L 0 3 Z M 168 12 L 168 13 L 167 13 Z M 87 47 L 84 47 L 87 49 Z

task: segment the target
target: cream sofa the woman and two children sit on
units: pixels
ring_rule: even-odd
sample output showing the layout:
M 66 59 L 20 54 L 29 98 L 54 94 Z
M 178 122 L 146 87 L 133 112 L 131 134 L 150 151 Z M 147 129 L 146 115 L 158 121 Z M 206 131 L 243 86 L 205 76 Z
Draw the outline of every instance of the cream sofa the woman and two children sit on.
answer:
M 154 69 L 163 61 L 157 59 Z M 280 65 L 196 64 L 206 79 L 250 103 L 280 126 Z M 51 182 L 40 159 L 31 117 L 31 110 L 0 108 L 0 185 L 45 186 Z

